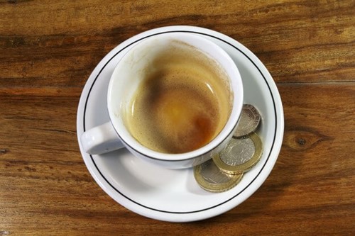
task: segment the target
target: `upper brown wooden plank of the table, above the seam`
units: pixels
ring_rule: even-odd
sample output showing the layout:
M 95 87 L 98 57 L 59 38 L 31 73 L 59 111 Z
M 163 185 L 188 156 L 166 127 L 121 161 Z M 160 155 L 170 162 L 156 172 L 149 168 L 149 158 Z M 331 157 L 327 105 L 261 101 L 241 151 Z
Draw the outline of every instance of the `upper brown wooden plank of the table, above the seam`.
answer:
M 166 5 L 150 1 L 9 2 L 16 4 L 0 8 L 0 87 L 82 87 L 109 50 L 171 22 L 231 36 L 260 57 L 277 82 L 354 79 L 355 50 L 349 50 L 355 47 L 352 1 L 180 1 L 180 11 L 158 13 Z

